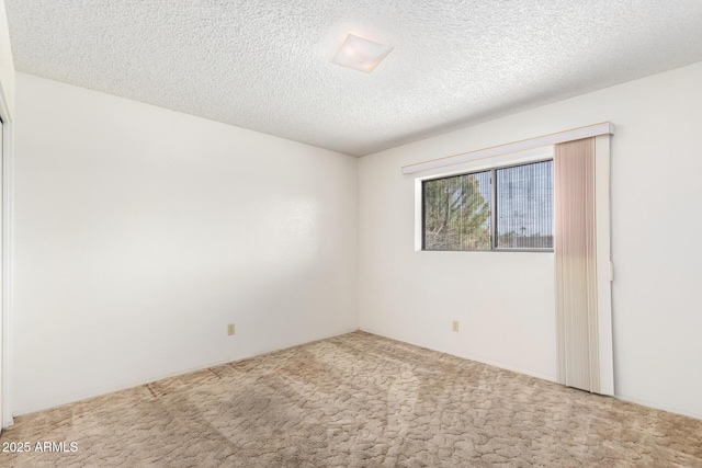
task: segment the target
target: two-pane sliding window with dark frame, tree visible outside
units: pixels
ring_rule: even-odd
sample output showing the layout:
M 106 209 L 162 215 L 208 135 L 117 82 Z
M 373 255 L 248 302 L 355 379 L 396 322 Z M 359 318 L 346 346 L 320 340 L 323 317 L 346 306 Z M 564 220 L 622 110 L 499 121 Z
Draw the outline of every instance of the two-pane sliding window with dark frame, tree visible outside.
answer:
M 423 181 L 422 249 L 552 250 L 553 161 Z

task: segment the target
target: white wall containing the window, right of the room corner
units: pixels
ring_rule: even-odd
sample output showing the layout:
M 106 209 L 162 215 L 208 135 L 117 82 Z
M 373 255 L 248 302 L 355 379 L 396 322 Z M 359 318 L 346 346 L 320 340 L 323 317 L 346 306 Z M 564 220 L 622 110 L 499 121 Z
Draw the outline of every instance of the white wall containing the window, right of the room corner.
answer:
M 554 378 L 552 255 L 415 252 L 400 167 L 611 121 L 615 392 L 702 418 L 700 109 L 695 64 L 362 158 L 360 327 Z

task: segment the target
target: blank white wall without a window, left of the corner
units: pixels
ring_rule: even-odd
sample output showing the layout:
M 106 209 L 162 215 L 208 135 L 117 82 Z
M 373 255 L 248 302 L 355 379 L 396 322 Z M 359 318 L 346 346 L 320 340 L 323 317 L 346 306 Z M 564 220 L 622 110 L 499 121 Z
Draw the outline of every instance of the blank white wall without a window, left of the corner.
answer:
M 358 329 L 355 158 L 22 73 L 16 99 L 15 415 Z

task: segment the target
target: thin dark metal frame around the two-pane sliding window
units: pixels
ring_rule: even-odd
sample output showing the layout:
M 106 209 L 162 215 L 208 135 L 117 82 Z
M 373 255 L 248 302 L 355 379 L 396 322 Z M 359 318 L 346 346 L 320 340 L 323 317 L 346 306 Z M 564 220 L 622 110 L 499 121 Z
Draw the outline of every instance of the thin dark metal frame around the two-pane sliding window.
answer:
M 426 179 L 421 179 L 420 182 L 420 197 L 421 197 L 421 225 L 420 225 L 420 249 L 419 251 L 421 252 L 539 252 L 539 253 L 553 253 L 554 248 L 531 248 L 531 249 L 524 249 L 524 248 L 520 248 L 520 249 L 509 249 L 509 248 L 498 248 L 497 247 L 497 214 L 499 212 L 499 205 L 497 202 L 497 171 L 501 170 L 501 169 L 510 169 L 510 168 L 518 168 L 520 165 L 529 165 L 529 164 L 537 164 L 540 162 L 553 162 L 553 156 L 550 156 L 547 158 L 541 158 L 541 159 L 534 159 L 534 160 L 530 160 L 530 161 L 520 161 L 520 162 L 512 162 L 512 163 L 506 163 L 506 164 L 498 164 L 498 165 L 491 165 L 488 168 L 484 168 L 484 169 L 476 169 L 476 170 L 472 170 L 472 171 L 461 171 L 461 172 L 456 172 L 453 174 L 442 174 L 442 175 L 435 175 L 435 176 L 429 176 Z M 451 179 L 451 178 L 456 178 L 456 176 L 461 176 L 461 175 L 472 175 L 472 174 L 479 174 L 479 173 L 484 173 L 484 172 L 489 172 L 490 174 L 490 248 L 489 249 L 475 249 L 475 250 L 450 250 L 450 249 L 427 249 L 426 248 L 426 232 L 424 232 L 424 227 L 426 227 L 426 216 L 427 216 L 427 209 L 426 209 L 426 199 L 424 199 L 424 183 L 426 182 L 431 182 L 431 181 L 437 181 L 437 180 L 441 180 L 441 179 Z M 554 194 L 555 197 L 555 194 Z M 553 232 L 553 225 L 551 226 L 552 228 L 552 232 Z

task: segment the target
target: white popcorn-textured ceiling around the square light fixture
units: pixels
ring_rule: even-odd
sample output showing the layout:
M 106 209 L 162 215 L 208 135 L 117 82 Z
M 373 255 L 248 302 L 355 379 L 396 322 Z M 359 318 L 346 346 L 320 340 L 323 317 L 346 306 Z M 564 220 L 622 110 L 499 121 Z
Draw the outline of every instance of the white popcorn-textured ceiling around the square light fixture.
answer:
M 4 2 L 19 71 L 355 156 L 702 60 L 700 0 Z

